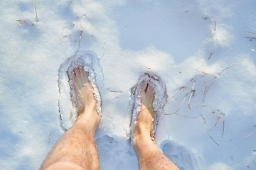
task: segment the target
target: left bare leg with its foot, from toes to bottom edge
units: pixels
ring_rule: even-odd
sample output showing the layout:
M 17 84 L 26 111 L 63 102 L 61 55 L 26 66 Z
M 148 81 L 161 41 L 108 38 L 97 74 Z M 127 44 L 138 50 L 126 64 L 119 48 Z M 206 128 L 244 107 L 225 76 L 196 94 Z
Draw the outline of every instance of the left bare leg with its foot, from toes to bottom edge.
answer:
M 95 131 L 100 124 L 96 101 L 87 74 L 75 68 L 73 84 L 78 102 L 78 118 L 75 124 L 60 137 L 43 162 L 43 169 L 99 169 L 99 157 L 95 145 Z

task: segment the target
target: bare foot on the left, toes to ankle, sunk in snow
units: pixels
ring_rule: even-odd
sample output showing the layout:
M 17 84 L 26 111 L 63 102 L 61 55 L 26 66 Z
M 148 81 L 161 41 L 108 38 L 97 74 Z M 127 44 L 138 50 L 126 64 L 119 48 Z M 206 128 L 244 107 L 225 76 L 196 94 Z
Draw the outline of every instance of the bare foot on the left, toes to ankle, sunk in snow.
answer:
M 70 76 L 70 75 L 69 75 Z M 76 104 L 78 108 L 77 121 L 82 118 L 90 123 L 95 123 L 96 127 L 100 123 L 100 115 L 96 111 L 96 101 L 93 93 L 93 87 L 88 79 L 87 72 L 82 68 L 74 69 L 74 76 L 70 77 L 73 80 L 75 89 Z

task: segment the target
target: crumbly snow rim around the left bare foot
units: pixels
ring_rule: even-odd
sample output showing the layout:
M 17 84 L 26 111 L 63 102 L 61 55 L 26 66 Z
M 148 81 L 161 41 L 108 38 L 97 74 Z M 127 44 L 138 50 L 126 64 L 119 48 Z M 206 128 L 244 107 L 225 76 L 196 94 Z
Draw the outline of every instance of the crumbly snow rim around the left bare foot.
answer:
M 74 82 L 74 74 L 79 70 L 84 74 L 80 79 L 80 84 Z M 59 113 L 60 113 L 60 126 L 66 131 L 75 123 L 78 114 L 82 111 L 82 106 L 79 103 L 78 96 L 75 94 L 75 89 L 84 83 L 90 83 L 93 89 L 94 98 L 97 102 L 97 113 L 102 115 L 101 111 L 101 98 L 97 84 L 100 82 L 96 79 L 101 75 L 101 68 L 99 60 L 94 52 L 78 52 L 77 55 L 68 58 L 61 64 L 58 74 L 59 86 Z M 89 82 L 88 82 L 89 81 Z

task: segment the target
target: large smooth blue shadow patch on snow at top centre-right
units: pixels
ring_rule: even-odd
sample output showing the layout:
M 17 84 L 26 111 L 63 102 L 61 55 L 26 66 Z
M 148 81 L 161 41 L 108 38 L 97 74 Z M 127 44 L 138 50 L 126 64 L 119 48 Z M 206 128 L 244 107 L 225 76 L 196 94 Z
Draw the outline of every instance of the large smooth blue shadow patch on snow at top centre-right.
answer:
M 210 38 L 210 23 L 196 1 L 129 1 L 112 11 L 123 49 L 154 46 L 182 61 Z

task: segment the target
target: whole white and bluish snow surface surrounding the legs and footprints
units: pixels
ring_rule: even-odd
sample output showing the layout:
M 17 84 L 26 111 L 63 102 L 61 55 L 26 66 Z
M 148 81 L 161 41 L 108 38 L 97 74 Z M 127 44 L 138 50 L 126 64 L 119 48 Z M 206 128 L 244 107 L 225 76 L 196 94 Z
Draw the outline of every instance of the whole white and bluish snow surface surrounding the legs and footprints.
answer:
M 1 1 L 1 169 L 38 169 L 63 135 L 59 69 L 81 50 L 95 52 L 102 70 L 100 169 L 138 169 L 127 140 L 129 101 L 146 71 L 160 75 L 169 94 L 156 144 L 181 169 L 256 169 L 255 6 Z

